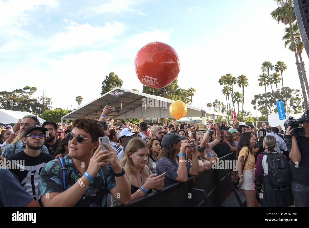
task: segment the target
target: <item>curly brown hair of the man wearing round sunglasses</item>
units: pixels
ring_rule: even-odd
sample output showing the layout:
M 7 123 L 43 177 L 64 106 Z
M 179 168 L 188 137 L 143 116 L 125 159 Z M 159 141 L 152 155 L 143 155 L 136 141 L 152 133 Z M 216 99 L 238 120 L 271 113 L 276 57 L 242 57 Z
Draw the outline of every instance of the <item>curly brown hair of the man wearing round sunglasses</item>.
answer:
M 83 129 L 86 133 L 91 135 L 92 143 L 99 139 L 99 137 L 104 136 L 103 125 L 101 125 L 98 120 L 91 119 L 88 117 L 78 117 L 72 123 L 72 130 L 76 127 Z

